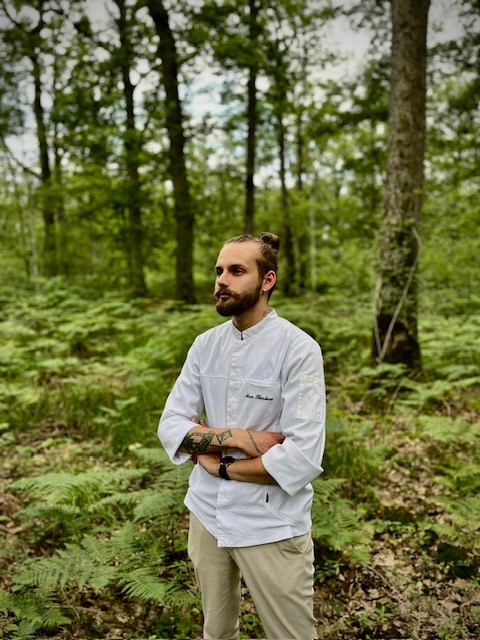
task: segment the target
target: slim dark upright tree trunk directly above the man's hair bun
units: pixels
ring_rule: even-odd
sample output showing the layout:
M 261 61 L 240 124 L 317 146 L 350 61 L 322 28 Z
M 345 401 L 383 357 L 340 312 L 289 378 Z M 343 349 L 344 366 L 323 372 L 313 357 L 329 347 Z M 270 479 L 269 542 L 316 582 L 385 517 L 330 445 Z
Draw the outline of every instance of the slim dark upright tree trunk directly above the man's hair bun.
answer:
M 249 0 L 249 35 L 252 45 L 252 60 L 249 65 L 247 84 L 247 163 L 245 178 L 245 233 L 253 234 L 255 217 L 255 151 L 257 130 L 257 67 L 256 46 L 258 40 L 257 0 Z

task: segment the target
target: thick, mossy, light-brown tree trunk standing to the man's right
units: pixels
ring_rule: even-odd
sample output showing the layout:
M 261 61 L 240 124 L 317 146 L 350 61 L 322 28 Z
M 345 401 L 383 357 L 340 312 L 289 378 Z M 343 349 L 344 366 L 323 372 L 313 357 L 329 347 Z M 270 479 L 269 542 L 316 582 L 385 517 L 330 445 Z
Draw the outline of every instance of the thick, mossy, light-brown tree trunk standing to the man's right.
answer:
M 410 370 L 421 368 L 417 270 L 429 4 L 429 0 L 392 1 L 387 176 L 372 350 L 376 363 L 403 363 Z

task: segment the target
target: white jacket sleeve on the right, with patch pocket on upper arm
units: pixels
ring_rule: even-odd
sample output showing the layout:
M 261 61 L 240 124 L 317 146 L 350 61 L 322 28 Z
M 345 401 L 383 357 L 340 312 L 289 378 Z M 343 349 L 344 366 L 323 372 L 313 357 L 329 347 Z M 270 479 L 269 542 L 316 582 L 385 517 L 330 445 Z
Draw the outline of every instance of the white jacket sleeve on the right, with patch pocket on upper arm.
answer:
M 322 352 L 307 335 L 295 338 L 282 369 L 281 445 L 262 456 L 268 473 L 286 493 L 295 495 L 323 469 L 325 379 Z

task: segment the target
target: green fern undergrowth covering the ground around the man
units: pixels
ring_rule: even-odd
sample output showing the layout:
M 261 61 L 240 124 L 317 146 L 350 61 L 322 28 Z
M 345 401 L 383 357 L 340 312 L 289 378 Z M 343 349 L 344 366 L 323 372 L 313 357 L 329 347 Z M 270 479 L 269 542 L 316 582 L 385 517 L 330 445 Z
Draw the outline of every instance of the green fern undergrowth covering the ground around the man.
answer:
M 206 306 L 98 299 L 58 282 L 3 289 L 0 304 L 0 637 L 199 637 L 183 506 L 190 468 L 169 464 L 155 432 L 191 342 L 221 320 Z M 325 355 L 328 438 L 312 511 L 318 593 L 372 575 L 386 539 L 414 547 L 440 581 L 475 582 L 480 316 L 430 312 L 424 375 L 412 379 L 402 367 L 370 367 L 367 303 L 323 297 L 276 308 Z M 394 637 L 395 606 L 336 616 L 322 637 Z M 442 624 L 438 636 L 448 637 L 440 633 L 453 623 Z M 460 626 L 459 637 L 474 637 L 469 616 Z M 115 629 L 121 635 L 109 636 Z M 245 594 L 242 637 L 262 633 Z

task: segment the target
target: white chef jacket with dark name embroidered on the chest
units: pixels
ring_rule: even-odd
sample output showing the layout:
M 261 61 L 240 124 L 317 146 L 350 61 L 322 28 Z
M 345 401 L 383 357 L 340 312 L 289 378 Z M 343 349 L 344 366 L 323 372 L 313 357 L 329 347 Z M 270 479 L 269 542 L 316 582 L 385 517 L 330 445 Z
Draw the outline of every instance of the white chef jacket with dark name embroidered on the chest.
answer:
M 311 528 L 311 482 L 323 471 L 325 383 L 317 342 L 272 310 L 239 331 L 230 320 L 199 335 L 165 404 L 158 437 L 171 461 L 203 412 L 213 428 L 285 435 L 262 462 L 277 484 L 228 481 L 199 464 L 185 504 L 220 547 L 245 547 L 303 535 Z M 236 450 L 223 455 L 246 456 Z

